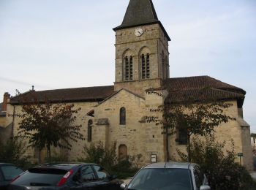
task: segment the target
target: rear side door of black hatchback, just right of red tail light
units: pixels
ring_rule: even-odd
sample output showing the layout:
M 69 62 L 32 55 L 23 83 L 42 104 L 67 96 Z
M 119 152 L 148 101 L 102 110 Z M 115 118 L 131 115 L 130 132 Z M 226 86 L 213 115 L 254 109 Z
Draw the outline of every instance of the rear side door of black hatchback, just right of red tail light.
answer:
M 95 190 L 99 184 L 92 167 L 86 165 L 75 173 L 69 186 L 73 190 Z

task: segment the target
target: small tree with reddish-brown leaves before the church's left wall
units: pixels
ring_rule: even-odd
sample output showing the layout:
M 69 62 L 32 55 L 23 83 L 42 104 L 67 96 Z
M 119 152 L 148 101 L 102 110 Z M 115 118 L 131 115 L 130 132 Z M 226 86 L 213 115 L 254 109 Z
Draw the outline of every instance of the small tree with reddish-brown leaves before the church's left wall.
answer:
M 50 148 L 59 147 L 70 149 L 70 140 L 77 142 L 84 140 L 80 133 L 81 125 L 75 123 L 76 116 L 81 109 L 75 109 L 74 104 L 53 104 L 48 99 L 43 102 L 23 102 L 21 113 L 12 116 L 20 118 L 18 138 L 27 139 L 29 146 L 47 148 L 50 161 Z

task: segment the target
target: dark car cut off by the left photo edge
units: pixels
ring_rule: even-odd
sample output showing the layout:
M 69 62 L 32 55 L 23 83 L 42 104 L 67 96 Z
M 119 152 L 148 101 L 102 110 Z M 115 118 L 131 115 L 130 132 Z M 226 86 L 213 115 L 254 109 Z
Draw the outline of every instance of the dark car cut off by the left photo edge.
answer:
M 14 164 L 0 163 L 0 189 L 7 189 L 9 183 L 24 172 Z

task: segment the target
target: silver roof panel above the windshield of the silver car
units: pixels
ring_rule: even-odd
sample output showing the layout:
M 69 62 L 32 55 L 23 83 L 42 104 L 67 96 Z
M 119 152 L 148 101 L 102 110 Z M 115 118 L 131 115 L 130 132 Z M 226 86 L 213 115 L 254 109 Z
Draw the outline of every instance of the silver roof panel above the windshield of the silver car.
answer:
M 148 164 L 144 168 L 178 168 L 178 169 L 189 169 L 189 167 L 194 166 L 195 164 L 189 162 L 178 162 L 178 161 L 169 161 L 169 162 L 158 162 L 154 164 Z

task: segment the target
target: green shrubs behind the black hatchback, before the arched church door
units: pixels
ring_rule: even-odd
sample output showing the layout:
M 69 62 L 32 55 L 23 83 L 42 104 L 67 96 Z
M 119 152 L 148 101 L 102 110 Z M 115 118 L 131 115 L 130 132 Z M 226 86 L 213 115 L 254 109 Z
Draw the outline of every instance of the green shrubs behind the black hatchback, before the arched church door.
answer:
M 138 162 L 141 154 L 127 156 L 125 159 L 118 160 L 116 155 L 116 142 L 106 149 L 102 142 L 91 143 L 89 147 L 84 147 L 85 157 L 78 159 L 81 162 L 95 163 L 105 167 L 109 172 L 118 175 L 118 178 L 127 178 L 135 175 L 138 171 Z

